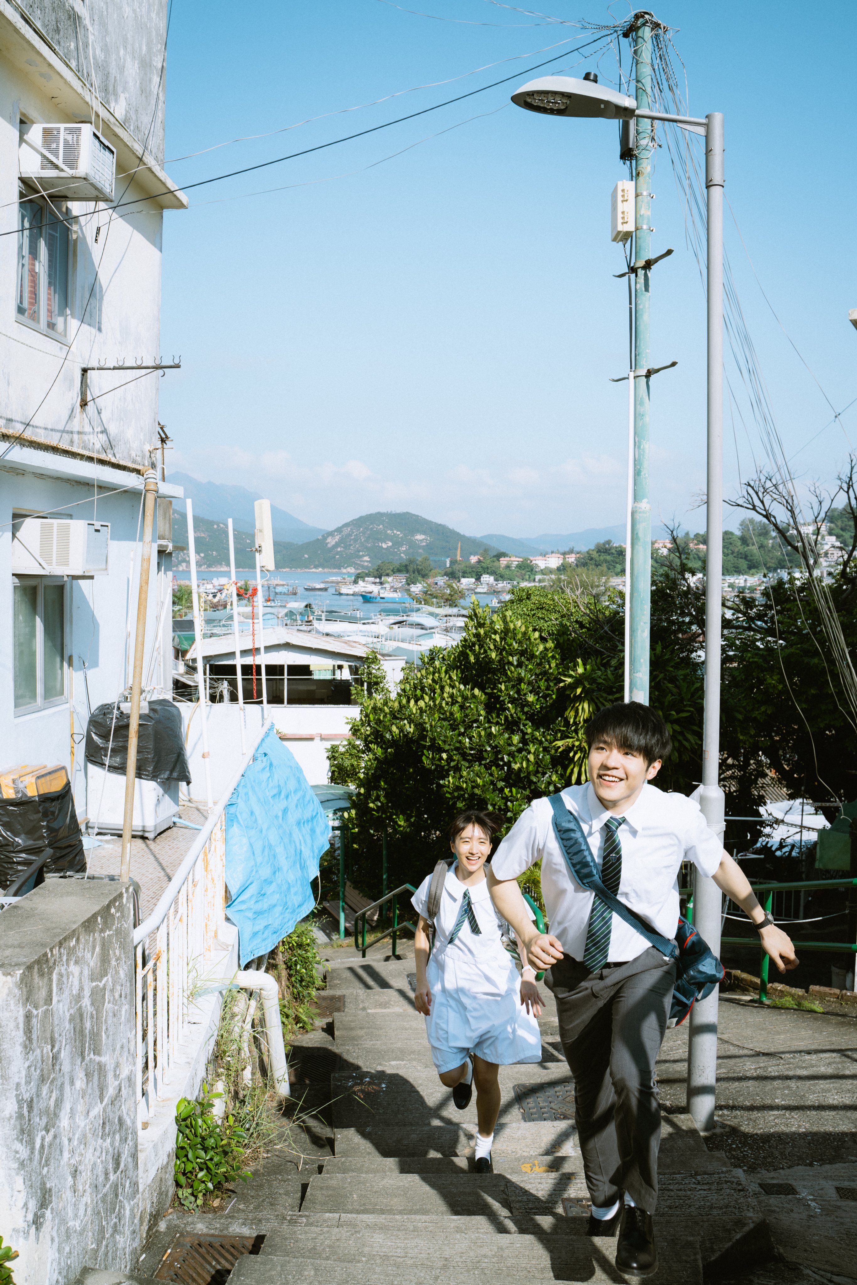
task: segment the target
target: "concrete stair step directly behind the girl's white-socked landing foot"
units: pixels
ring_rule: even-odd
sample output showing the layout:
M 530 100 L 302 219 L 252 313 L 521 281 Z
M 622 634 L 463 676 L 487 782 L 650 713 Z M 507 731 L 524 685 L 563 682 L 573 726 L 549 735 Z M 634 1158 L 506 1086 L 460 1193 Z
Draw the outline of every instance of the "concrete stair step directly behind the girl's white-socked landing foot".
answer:
M 457 1113 L 456 1113 L 457 1114 Z M 472 1155 L 475 1127 L 436 1124 L 429 1127 L 365 1124 L 334 1130 L 335 1155 L 443 1156 Z M 577 1130 L 573 1123 L 497 1124 L 493 1159 L 535 1160 L 540 1155 L 574 1155 Z

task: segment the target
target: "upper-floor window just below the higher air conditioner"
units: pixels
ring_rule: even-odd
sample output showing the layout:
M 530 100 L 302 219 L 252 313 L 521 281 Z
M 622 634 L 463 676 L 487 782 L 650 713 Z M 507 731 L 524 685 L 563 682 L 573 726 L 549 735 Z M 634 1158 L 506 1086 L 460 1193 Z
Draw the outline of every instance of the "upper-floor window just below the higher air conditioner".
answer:
M 22 200 L 18 208 L 18 319 L 48 334 L 66 335 L 69 238 L 62 221 L 64 204 Z

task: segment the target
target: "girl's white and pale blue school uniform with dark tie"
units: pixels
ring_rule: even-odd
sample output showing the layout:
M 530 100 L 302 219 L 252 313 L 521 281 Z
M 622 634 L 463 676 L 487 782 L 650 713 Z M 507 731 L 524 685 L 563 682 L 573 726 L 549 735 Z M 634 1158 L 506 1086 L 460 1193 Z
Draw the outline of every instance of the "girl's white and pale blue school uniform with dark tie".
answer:
M 502 1067 L 518 1061 L 541 1061 L 538 1022 L 520 1004 L 520 977 L 513 956 L 502 944 L 505 921 L 497 914 L 488 882 L 465 888 L 454 865 L 443 882 L 441 906 L 434 920 L 434 946 L 427 982 L 432 1011 L 425 1033 L 438 1074 L 460 1067 L 469 1052 Z M 427 875 L 411 903 L 425 917 L 432 876 Z M 479 932 L 465 916 L 450 942 L 464 893 Z

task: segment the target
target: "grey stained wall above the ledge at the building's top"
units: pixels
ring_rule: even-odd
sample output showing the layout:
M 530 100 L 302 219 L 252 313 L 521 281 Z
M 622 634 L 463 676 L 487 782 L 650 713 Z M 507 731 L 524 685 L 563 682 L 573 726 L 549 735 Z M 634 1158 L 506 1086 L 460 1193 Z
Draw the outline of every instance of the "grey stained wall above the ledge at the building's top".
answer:
M 167 0 L 18 5 L 137 143 L 163 161 Z

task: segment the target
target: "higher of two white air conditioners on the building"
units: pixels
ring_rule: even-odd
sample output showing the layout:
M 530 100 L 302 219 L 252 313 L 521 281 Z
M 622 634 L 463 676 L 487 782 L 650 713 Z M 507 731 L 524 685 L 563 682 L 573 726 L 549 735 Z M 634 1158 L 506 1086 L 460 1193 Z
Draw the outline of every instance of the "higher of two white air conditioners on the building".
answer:
M 67 200 L 113 200 L 116 152 L 91 125 L 28 125 L 21 177 Z

